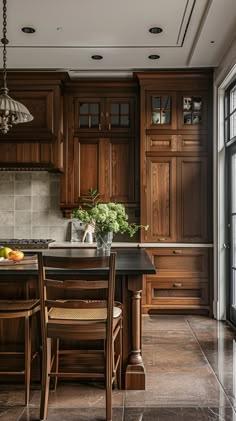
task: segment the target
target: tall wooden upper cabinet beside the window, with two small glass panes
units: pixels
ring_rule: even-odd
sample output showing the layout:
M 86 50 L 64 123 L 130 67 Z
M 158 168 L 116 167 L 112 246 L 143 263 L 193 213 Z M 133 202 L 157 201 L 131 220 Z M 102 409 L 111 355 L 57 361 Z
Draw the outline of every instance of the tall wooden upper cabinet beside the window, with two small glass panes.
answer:
M 210 71 L 139 73 L 144 242 L 212 240 Z

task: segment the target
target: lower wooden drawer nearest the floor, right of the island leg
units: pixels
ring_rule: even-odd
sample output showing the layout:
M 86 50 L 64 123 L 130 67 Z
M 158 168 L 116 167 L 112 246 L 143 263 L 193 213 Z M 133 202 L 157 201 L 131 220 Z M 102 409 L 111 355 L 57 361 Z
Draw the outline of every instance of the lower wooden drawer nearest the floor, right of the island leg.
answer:
M 206 280 L 207 281 L 207 280 Z M 209 302 L 208 283 L 199 279 L 146 281 L 146 304 L 163 306 L 199 306 Z

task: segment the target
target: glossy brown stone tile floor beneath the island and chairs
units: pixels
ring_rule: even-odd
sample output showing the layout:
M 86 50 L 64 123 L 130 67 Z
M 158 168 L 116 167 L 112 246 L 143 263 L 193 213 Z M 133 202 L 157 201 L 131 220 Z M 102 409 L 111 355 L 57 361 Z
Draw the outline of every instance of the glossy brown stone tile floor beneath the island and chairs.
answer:
M 201 316 L 143 316 L 145 391 L 113 392 L 113 421 L 236 421 L 236 331 Z M 37 389 L 0 384 L 0 421 L 39 419 Z M 48 421 L 104 420 L 104 390 L 59 382 Z

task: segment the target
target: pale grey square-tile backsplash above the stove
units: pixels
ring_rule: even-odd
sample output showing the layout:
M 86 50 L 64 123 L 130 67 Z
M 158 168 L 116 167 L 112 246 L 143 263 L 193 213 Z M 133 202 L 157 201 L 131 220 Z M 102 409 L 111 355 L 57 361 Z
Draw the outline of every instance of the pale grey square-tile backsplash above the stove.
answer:
M 60 211 L 60 174 L 0 173 L 0 239 L 67 239 L 68 219 Z

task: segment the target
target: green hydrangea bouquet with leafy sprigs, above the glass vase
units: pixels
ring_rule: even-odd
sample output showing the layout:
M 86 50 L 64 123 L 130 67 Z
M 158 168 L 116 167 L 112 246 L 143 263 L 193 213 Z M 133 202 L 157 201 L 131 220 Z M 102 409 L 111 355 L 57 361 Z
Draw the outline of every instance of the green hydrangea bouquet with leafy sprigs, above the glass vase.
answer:
M 100 203 L 99 193 L 91 188 L 88 190 L 90 197 L 84 199 L 84 204 L 89 209 L 82 207 L 72 211 L 72 218 L 78 218 L 80 221 L 95 227 L 96 231 L 114 233 L 127 232 L 130 237 L 139 230 L 139 228 L 148 229 L 148 225 L 137 225 L 128 222 L 128 215 L 125 206 L 119 203 Z

